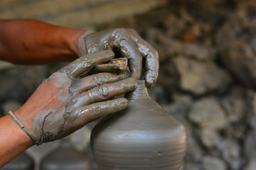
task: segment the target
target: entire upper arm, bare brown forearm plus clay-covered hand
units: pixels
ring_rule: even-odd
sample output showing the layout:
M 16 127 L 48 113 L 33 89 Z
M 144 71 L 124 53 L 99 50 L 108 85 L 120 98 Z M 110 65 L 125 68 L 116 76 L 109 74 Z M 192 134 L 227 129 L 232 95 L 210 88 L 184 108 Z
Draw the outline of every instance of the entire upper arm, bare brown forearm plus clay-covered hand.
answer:
M 107 49 L 118 51 L 129 60 L 131 77 L 145 79 L 147 87 L 154 86 L 158 53 L 135 30 L 117 28 L 92 33 L 33 20 L 0 20 L 0 60 L 48 64 Z

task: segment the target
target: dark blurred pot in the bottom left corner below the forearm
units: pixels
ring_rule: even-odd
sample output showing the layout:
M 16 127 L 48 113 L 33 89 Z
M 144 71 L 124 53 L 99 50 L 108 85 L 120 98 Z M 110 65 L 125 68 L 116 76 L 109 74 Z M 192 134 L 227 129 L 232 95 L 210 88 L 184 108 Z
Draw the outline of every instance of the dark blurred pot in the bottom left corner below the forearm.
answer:
M 9 164 L 6 164 L 1 170 L 33 170 L 33 159 L 25 152 L 14 158 Z

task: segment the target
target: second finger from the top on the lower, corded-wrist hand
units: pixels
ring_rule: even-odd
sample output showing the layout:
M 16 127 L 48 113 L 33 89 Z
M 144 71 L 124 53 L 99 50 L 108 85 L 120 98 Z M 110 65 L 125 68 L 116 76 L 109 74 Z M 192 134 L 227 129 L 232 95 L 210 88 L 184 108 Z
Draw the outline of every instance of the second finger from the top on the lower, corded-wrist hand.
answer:
M 82 93 L 83 91 L 92 89 L 95 86 L 100 86 L 102 84 L 110 84 L 115 81 L 127 79 L 128 77 L 129 77 L 129 72 L 122 72 L 119 74 L 114 74 L 114 73 L 92 74 L 78 81 L 73 81 L 74 82 L 73 89 L 75 89 L 75 91 L 77 91 L 78 93 Z

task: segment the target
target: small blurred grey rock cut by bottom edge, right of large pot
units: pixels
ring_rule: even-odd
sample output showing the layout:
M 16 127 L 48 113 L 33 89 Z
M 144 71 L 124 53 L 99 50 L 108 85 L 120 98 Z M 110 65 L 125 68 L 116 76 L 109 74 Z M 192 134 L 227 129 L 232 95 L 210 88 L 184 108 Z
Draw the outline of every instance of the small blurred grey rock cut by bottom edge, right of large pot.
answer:
M 227 169 L 227 166 L 225 162 L 223 162 L 221 159 L 218 159 L 217 157 L 211 157 L 211 156 L 204 156 L 203 157 L 203 169 L 206 170 L 225 170 Z

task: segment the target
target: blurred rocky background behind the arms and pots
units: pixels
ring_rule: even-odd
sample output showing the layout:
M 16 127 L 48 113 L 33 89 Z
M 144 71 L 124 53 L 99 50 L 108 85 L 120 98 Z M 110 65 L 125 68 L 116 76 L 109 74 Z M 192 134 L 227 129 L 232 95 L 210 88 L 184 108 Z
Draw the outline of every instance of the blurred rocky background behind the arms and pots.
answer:
M 1 0 L 0 18 L 35 18 L 85 30 L 134 28 L 159 52 L 151 97 L 186 126 L 181 169 L 256 169 L 255 0 Z M 0 114 L 20 107 L 64 65 L 0 62 Z M 94 125 L 69 137 L 92 163 Z M 27 153 L 38 166 L 58 145 L 46 143 Z

